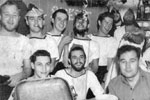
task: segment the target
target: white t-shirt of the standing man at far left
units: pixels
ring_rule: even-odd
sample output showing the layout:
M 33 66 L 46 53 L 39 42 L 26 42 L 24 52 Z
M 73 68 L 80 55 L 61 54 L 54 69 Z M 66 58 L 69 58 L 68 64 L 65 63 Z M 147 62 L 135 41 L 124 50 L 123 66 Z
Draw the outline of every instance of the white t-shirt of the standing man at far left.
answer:
M 29 39 L 21 34 L 18 37 L 0 36 L 0 54 L 0 75 L 22 72 L 23 60 L 31 56 Z

